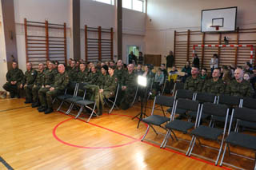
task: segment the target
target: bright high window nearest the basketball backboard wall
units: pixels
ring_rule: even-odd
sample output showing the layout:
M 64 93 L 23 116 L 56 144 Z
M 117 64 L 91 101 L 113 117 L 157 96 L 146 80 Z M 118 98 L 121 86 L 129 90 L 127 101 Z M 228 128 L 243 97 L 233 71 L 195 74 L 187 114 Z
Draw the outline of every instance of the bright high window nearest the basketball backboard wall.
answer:
M 122 7 L 130 10 L 137 10 L 139 12 L 145 12 L 144 3 L 144 0 L 123 0 Z

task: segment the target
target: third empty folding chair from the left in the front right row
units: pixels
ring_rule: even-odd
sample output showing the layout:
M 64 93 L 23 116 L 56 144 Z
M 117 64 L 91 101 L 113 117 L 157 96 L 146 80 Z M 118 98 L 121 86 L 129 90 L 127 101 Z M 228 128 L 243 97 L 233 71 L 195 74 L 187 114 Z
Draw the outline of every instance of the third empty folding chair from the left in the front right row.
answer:
M 210 146 L 202 145 L 199 138 L 203 138 L 206 140 L 221 141 L 219 148 L 212 148 L 214 150 L 216 150 L 216 149 L 218 150 L 217 159 L 213 160 L 215 162 L 215 165 L 217 165 L 219 157 L 222 152 L 222 146 L 223 146 L 223 142 L 224 142 L 224 136 L 225 136 L 226 126 L 227 126 L 228 117 L 229 117 L 229 108 L 226 105 L 216 105 L 216 104 L 212 104 L 212 103 L 206 103 L 206 104 L 202 105 L 202 113 L 206 113 L 206 114 L 212 115 L 212 116 L 224 117 L 225 125 L 222 128 L 213 128 L 213 127 L 206 126 L 206 125 L 200 125 L 200 120 L 201 120 L 201 114 L 200 114 L 200 117 L 198 119 L 198 125 L 199 125 L 198 128 L 195 128 L 194 130 L 192 130 L 190 132 L 190 134 L 192 135 L 192 139 L 190 141 L 190 147 L 186 153 L 188 156 L 191 156 L 191 155 L 200 156 L 200 155 L 192 153 L 196 140 L 198 140 L 198 143 L 200 146 L 212 148 Z M 219 139 L 219 136 L 222 136 L 222 138 Z M 202 157 L 204 157 L 204 156 L 202 156 Z M 206 158 L 206 159 L 211 160 L 210 158 Z

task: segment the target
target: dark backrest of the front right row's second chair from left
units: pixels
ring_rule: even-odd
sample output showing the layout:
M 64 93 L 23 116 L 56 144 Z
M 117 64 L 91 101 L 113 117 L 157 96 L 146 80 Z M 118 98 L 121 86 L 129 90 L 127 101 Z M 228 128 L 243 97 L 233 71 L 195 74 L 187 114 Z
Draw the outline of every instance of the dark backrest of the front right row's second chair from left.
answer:
M 185 109 L 188 111 L 196 112 L 198 111 L 198 101 L 192 101 L 189 99 L 178 99 L 176 104 L 176 109 Z

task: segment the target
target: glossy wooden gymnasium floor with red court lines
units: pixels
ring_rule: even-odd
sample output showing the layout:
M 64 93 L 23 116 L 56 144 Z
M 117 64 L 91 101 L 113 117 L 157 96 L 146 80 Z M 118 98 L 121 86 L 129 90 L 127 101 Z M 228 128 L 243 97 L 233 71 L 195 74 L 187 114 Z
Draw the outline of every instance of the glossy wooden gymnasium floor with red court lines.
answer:
M 0 156 L 14 169 L 223 168 L 198 157 L 187 157 L 182 152 L 140 141 L 146 125 L 142 123 L 136 128 L 138 120 L 131 120 L 139 112 L 139 104 L 126 111 L 114 110 L 110 115 L 92 117 L 90 123 L 86 123 L 86 115 L 77 120 L 58 112 L 45 115 L 24 101 L 0 100 Z M 150 101 L 150 106 L 152 104 Z M 146 113 L 150 114 L 150 109 Z M 178 136 L 190 140 L 190 136 L 181 133 Z M 150 130 L 146 139 L 162 142 L 163 137 Z M 170 140 L 168 144 L 183 149 L 188 146 L 182 141 L 177 144 Z M 217 155 L 202 148 L 195 152 L 213 158 Z M 251 152 L 248 155 L 253 156 Z M 233 161 L 244 168 L 254 167 L 251 160 Z M 1 161 L 0 169 L 7 169 Z

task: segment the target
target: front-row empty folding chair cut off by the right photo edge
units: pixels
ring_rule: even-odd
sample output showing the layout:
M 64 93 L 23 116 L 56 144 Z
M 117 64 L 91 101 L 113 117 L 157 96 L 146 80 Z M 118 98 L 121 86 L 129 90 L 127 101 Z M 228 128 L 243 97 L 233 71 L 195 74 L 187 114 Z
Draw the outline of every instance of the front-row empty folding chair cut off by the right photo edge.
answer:
M 256 110 L 255 109 L 247 109 L 247 108 L 236 108 L 232 112 L 231 119 L 230 119 L 231 122 L 233 121 L 233 118 L 240 120 L 240 121 L 249 121 L 251 123 L 256 124 Z M 228 164 L 223 161 L 224 157 L 225 157 L 225 153 L 226 153 L 226 148 L 228 148 L 228 151 L 230 154 L 233 154 L 236 156 L 241 156 L 243 158 L 247 158 L 250 160 L 254 160 L 254 169 L 256 169 L 256 159 L 255 158 L 252 159 L 250 157 L 243 156 L 238 153 L 230 152 L 230 145 L 239 146 L 242 148 L 248 148 L 248 149 L 254 150 L 254 152 L 255 152 L 256 151 L 256 136 L 253 136 L 250 134 L 245 134 L 242 132 L 230 132 L 230 130 L 231 130 L 231 123 L 230 123 L 230 127 L 228 130 L 228 136 L 226 137 L 226 140 L 225 140 L 226 144 L 225 144 L 224 152 L 222 154 L 222 160 L 221 160 L 220 166 L 222 166 L 222 164 L 226 164 L 233 168 L 239 168 L 233 164 Z M 229 156 L 230 156 L 230 154 L 229 154 Z M 256 152 L 255 152 L 255 156 L 256 156 Z M 241 169 L 241 168 L 239 168 L 239 169 Z

